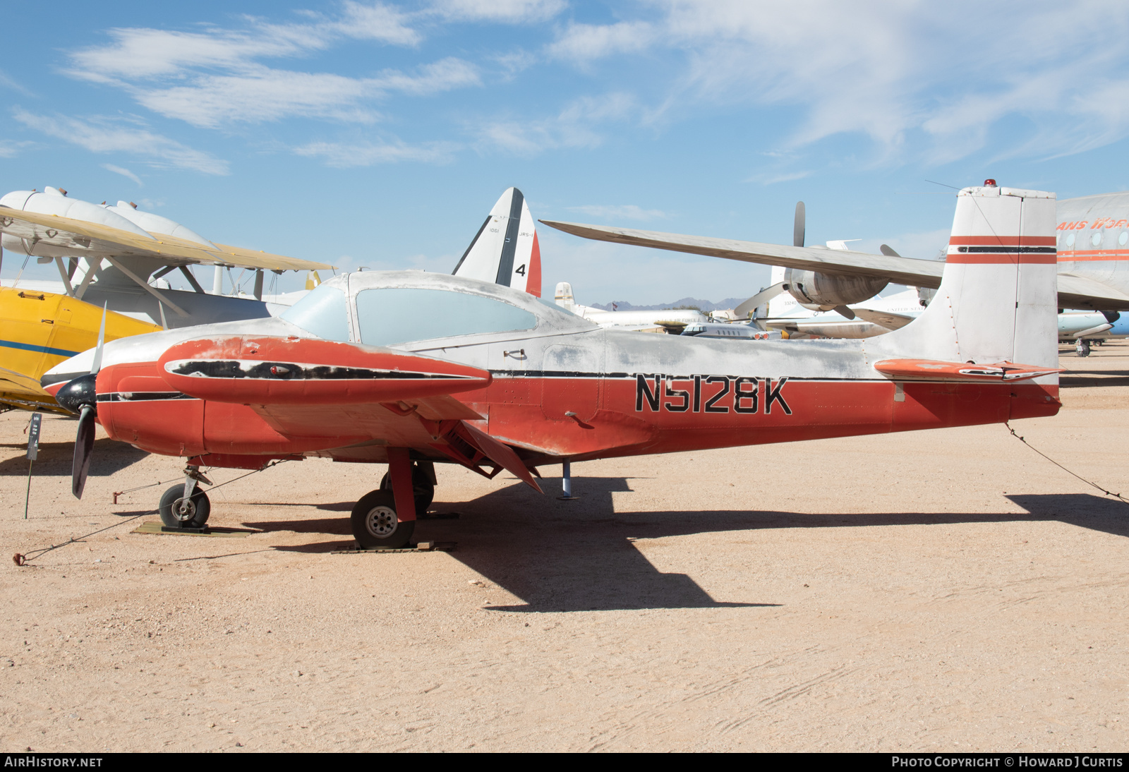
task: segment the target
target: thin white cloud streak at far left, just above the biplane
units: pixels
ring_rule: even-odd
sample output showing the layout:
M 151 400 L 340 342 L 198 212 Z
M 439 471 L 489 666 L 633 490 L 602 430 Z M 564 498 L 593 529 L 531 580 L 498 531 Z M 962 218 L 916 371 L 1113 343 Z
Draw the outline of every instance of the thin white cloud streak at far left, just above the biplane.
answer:
M 65 140 L 91 152 L 124 152 L 147 156 L 150 166 L 192 169 L 226 175 L 227 161 L 147 129 L 122 125 L 107 119 L 80 120 L 64 115 L 35 115 L 17 108 L 15 117 L 29 129 Z

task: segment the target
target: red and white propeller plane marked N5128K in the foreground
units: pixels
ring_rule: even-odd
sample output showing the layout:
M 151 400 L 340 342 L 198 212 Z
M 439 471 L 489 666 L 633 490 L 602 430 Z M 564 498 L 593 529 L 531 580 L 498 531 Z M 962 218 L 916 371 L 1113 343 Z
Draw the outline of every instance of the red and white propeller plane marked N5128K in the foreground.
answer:
M 402 546 L 436 462 L 540 490 L 540 465 L 562 463 L 567 480 L 572 460 L 1056 414 L 1053 194 L 965 188 L 949 244 L 934 301 L 879 337 L 640 335 L 493 282 L 364 272 L 278 318 L 99 345 L 44 386 L 84 416 L 76 494 L 96 416 L 113 439 L 187 459 L 161 499 L 170 526 L 207 520 L 202 465 L 322 456 L 388 465 L 352 530 Z

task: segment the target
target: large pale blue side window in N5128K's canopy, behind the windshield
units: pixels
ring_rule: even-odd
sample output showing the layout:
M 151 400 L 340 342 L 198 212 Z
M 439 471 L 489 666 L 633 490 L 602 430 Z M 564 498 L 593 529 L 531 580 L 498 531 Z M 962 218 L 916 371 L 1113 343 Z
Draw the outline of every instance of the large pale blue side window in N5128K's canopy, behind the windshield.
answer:
M 357 293 L 360 340 L 390 345 L 432 337 L 532 330 L 537 317 L 504 300 L 449 290 L 382 288 Z

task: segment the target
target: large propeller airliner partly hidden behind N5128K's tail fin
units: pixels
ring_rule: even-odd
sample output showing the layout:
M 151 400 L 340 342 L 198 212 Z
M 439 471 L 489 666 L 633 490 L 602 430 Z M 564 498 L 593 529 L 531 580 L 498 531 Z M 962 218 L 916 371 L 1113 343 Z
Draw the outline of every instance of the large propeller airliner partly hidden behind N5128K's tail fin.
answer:
M 995 179 L 984 181 L 984 186 L 995 185 Z M 1052 235 L 1057 235 L 1058 246 L 1058 307 L 1129 310 L 1129 192 L 1060 201 L 1057 220 L 1058 229 Z M 824 310 L 838 310 L 872 298 L 887 282 L 939 287 L 945 267 L 938 261 L 902 257 L 885 245 L 879 255 L 804 246 L 803 202 L 797 205 L 793 246 L 578 222 L 541 222 L 599 242 L 782 265 L 788 269 L 787 287 L 780 289 L 799 302 Z M 843 315 L 850 318 L 849 314 Z

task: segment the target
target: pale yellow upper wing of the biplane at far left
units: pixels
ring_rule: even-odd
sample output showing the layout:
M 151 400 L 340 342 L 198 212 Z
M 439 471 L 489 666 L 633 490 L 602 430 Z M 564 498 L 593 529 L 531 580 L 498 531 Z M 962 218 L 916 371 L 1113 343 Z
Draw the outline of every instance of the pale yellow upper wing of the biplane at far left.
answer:
M 209 249 L 202 244 L 175 236 L 157 234 L 145 238 L 119 228 L 58 214 L 27 212 L 0 207 L 0 233 L 24 239 L 34 252 L 35 245 L 73 249 L 75 257 L 154 257 L 164 262 L 201 265 L 231 265 L 247 269 L 306 271 L 332 269 L 327 263 L 295 260 L 264 252 L 217 244 Z

